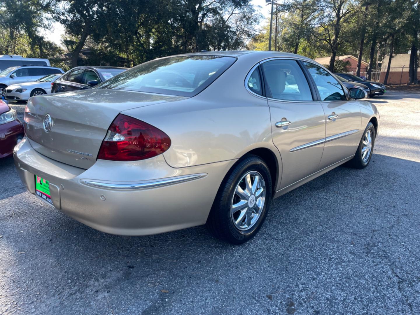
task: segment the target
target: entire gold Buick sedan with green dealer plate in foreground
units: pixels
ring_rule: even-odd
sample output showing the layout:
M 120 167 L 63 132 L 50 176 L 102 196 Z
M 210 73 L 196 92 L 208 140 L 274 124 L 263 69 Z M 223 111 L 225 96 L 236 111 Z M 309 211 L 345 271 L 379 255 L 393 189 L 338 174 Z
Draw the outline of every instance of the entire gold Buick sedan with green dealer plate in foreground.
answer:
M 272 198 L 369 164 L 379 114 L 364 97 L 299 55 L 160 58 L 92 89 L 32 97 L 14 159 L 29 192 L 97 230 L 206 224 L 240 244 Z

